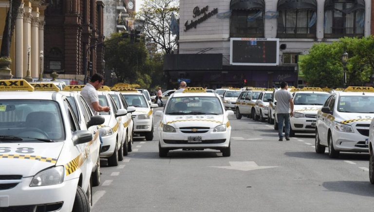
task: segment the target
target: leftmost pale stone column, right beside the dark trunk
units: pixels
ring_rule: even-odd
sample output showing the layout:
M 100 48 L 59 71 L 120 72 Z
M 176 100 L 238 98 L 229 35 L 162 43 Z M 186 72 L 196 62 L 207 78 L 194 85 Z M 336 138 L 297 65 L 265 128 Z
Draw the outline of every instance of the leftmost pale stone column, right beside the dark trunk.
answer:
M 15 59 L 15 77 L 23 77 L 23 3 L 19 6 L 16 20 L 16 59 Z M 27 53 L 26 53 L 27 54 Z

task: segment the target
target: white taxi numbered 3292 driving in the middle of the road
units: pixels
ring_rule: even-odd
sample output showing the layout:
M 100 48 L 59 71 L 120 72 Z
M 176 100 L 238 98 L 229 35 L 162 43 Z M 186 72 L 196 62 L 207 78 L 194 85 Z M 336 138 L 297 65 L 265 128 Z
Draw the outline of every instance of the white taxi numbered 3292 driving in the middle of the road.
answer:
M 231 126 L 228 120 L 232 111 L 225 111 L 218 94 L 206 93 L 203 88 L 187 87 L 183 93 L 170 96 L 160 116 L 159 156 L 170 150 L 220 150 L 230 156 Z

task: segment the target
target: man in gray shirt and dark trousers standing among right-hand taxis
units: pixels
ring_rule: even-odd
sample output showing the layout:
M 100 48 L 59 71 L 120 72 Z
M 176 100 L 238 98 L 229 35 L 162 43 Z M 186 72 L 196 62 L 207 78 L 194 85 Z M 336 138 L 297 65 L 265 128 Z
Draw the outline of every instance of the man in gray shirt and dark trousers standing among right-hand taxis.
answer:
M 278 120 L 278 135 L 279 141 L 283 140 L 283 121 L 285 124 L 285 137 L 290 140 L 290 116 L 294 115 L 294 102 L 292 95 L 287 90 L 288 85 L 286 82 L 281 82 L 281 90 L 275 92 L 275 99 L 277 100 L 277 120 Z

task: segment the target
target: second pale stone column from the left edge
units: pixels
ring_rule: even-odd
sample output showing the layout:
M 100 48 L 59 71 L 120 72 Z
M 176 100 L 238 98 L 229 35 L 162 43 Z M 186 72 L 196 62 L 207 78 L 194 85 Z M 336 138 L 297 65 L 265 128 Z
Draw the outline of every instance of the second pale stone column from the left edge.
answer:
M 30 34 L 31 34 L 31 19 L 33 18 L 33 15 L 31 13 L 31 7 L 24 7 L 24 10 L 25 10 L 25 13 L 23 14 L 23 52 L 24 52 L 23 54 L 23 76 L 26 76 L 27 69 L 30 70 L 31 68 L 31 67 L 27 67 L 27 63 L 29 59 L 27 56 L 27 49 L 29 48 L 29 46 L 31 46 Z

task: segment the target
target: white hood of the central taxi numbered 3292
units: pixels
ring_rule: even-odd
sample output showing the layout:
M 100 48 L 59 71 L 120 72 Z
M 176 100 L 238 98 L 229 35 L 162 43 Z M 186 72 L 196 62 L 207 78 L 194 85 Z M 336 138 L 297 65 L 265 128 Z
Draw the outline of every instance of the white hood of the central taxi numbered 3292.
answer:
M 166 115 L 164 124 L 168 124 L 174 128 L 181 127 L 209 127 L 215 128 L 224 124 L 224 115 L 186 115 L 186 116 L 170 116 Z

